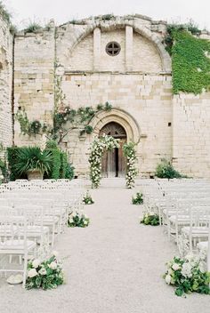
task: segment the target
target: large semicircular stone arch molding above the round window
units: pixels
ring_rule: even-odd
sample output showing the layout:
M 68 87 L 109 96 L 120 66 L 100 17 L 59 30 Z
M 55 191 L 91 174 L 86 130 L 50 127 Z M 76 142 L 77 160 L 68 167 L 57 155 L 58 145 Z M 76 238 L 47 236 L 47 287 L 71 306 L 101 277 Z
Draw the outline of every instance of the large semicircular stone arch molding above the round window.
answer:
M 83 39 L 85 39 L 85 36 L 90 35 L 93 33 L 93 30 L 95 28 L 101 28 L 104 31 L 110 31 L 116 28 L 125 28 L 126 26 L 131 26 L 133 30 L 140 34 L 141 36 L 144 36 L 147 38 L 152 44 L 156 46 L 158 49 L 160 58 L 162 60 L 162 68 L 163 72 L 171 73 L 172 71 L 172 64 L 171 64 L 171 58 L 168 52 L 166 52 L 164 44 L 162 44 L 161 39 L 153 33 L 149 28 L 146 26 L 143 26 L 141 24 L 141 20 L 125 20 L 123 18 L 119 18 L 117 20 L 110 20 L 109 23 L 101 21 L 101 20 L 95 20 L 93 23 L 86 26 L 86 28 L 82 29 L 81 32 L 77 34 L 75 37 L 74 42 L 69 47 L 69 52 L 73 52 L 73 50 L 76 48 L 77 44 L 79 44 Z

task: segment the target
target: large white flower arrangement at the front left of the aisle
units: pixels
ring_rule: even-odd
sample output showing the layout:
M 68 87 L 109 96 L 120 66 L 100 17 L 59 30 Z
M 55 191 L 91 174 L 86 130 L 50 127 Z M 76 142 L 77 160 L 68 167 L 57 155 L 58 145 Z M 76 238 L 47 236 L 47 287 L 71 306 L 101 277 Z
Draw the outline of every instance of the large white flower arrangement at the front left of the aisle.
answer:
M 52 257 L 45 261 L 28 261 L 27 289 L 54 289 L 64 283 L 62 263 L 54 254 L 57 253 L 53 253 Z

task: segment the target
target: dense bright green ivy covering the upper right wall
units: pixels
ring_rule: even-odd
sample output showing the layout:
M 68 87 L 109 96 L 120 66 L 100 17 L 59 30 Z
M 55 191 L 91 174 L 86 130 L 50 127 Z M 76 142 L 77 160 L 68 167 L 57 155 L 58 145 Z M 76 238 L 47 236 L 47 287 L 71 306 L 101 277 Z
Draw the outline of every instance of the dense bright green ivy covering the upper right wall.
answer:
M 199 34 L 193 25 L 167 28 L 165 44 L 172 55 L 174 94 L 210 90 L 210 42 L 199 38 Z

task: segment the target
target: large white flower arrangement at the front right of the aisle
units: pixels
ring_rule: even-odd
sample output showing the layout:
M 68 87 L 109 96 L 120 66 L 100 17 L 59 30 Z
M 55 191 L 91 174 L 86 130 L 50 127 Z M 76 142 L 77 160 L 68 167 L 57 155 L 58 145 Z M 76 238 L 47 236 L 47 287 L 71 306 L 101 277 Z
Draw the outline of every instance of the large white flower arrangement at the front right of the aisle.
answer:
M 184 259 L 174 257 L 169 261 L 164 275 L 166 284 L 176 287 L 175 294 L 184 293 L 210 294 L 210 272 L 206 271 L 205 256 L 187 255 Z

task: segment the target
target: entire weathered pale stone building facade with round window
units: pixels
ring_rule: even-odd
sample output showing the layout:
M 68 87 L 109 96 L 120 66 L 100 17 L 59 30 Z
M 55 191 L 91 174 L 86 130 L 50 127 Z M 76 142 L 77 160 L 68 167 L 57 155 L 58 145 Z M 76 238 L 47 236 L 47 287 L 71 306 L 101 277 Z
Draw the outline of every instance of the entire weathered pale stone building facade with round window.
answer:
M 60 27 L 51 21 L 36 33 L 20 32 L 14 38 L 13 101 L 12 39 L 0 36 L 0 47 L 10 43 L 7 76 L 0 68 L 0 77 L 7 79 L 4 100 L 0 98 L 3 143 L 12 143 L 11 113 L 19 109 L 24 108 L 31 121 L 52 124 L 59 81 L 65 106 L 96 108 L 106 101 L 112 105 L 109 112 L 93 117 L 92 134 L 81 137 L 75 129 L 62 141 L 77 175 L 88 174 L 94 136 L 114 123 L 124 129 L 126 141 L 137 143 L 140 176 L 153 175 L 161 158 L 166 158 L 182 173 L 210 177 L 210 93 L 173 95 L 171 59 L 162 44 L 165 34 L 165 22 L 141 15 L 98 17 Z M 0 65 L 3 54 L 0 50 Z M 18 146 L 42 145 L 44 138 L 22 135 L 15 120 L 13 140 Z M 119 154 L 109 158 L 119 162 Z

